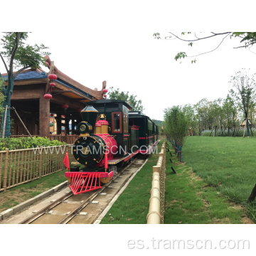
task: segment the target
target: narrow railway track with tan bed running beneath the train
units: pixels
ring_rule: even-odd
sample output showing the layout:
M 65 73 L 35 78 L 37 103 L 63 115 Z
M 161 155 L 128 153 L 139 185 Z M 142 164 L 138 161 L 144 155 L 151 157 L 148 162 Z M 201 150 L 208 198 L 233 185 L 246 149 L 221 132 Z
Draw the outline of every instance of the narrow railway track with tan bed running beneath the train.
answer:
M 74 196 L 70 191 L 58 198 L 56 201 L 48 204 L 48 206 L 38 210 L 36 213 L 33 213 L 28 218 L 21 220 L 19 224 L 94 223 L 102 211 L 105 210 L 109 201 L 111 201 L 111 199 L 124 186 L 124 183 L 127 183 L 132 174 L 134 174 L 134 172 L 136 172 L 143 164 L 143 159 L 135 159 L 129 165 L 125 166 L 124 169 L 120 170 L 117 176 L 114 176 L 109 183 L 106 183 L 97 191 L 82 193 L 77 196 Z M 116 185 L 117 183 L 120 184 Z M 111 191 L 113 186 L 114 189 Z M 109 193 L 103 192 L 107 190 Z M 104 196 L 107 196 L 107 199 L 105 199 Z M 100 199 L 101 203 L 99 204 L 99 201 L 95 201 L 95 198 L 102 198 L 102 200 Z M 90 211 L 90 214 L 88 214 L 87 208 Z M 63 209 L 65 209 L 64 213 Z

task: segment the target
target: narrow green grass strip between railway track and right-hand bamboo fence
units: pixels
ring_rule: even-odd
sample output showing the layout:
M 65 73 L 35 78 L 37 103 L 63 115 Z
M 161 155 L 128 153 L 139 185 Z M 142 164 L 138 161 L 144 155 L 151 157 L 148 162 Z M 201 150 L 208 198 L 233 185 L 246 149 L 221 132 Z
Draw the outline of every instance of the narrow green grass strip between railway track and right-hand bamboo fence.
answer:
M 158 151 L 161 144 L 158 144 Z M 158 154 L 152 154 L 143 168 L 132 179 L 101 224 L 145 224 L 149 213 L 149 198 L 152 182 L 152 166 L 156 165 Z

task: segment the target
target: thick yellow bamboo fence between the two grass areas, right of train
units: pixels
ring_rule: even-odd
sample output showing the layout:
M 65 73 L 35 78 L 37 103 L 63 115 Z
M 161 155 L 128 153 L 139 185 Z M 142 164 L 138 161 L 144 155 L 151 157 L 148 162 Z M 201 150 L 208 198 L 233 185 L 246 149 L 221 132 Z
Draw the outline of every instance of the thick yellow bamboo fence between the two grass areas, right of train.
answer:
M 164 224 L 164 194 L 166 178 L 166 142 L 161 146 L 159 159 L 153 166 L 151 197 L 149 213 L 146 215 L 147 224 Z

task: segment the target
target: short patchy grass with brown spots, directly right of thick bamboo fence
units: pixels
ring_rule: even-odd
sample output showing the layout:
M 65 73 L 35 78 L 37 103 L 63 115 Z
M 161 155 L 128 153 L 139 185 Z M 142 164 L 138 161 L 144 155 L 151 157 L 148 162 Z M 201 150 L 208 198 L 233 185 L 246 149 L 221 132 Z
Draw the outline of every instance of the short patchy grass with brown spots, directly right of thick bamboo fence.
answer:
M 165 224 L 246 223 L 246 210 L 207 184 L 186 164 L 166 156 Z M 173 164 L 169 161 L 172 159 Z M 171 171 L 174 167 L 176 174 Z

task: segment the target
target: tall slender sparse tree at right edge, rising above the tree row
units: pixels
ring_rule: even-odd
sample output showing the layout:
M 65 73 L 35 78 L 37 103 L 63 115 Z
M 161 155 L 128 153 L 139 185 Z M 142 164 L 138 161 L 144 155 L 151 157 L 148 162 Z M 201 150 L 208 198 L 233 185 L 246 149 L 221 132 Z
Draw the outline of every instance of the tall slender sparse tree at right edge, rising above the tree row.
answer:
M 255 74 L 250 78 L 249 71 L 242 69 L 242 72 L 236 72 L 231 77 L 230 83 L 233 89 L 230 90 L 231 95 L 235 98 L 238 106 L 243 110 L 245 114 L 247 136 L 250 136 L 248 113 L 250 110 L 255 110 Z

